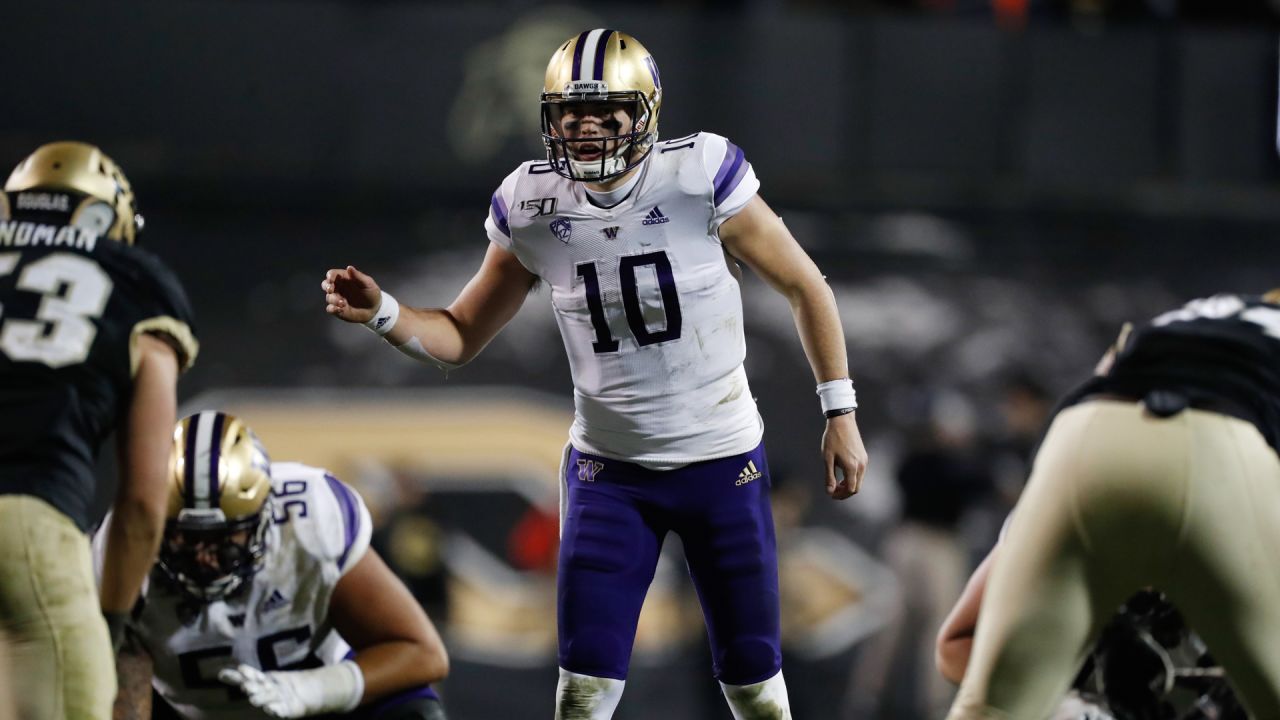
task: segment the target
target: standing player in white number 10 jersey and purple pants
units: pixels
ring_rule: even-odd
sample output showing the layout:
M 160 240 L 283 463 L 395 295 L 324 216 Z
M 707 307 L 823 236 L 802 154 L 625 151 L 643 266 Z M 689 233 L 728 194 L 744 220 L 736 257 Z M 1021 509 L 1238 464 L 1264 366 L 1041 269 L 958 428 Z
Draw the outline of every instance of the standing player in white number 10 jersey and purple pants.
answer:
M 713 671 L 736 717 L 790 717 L 763 424 L 748 387 L 739 264 L 791 305 L 826 415 L 826 487 L 867 465 L 835 297 L 728 140 L 659 141 L 662 78 L 626 33 L 556 50 L 541 95 L 545 161 L 493 193 L 489 246 L 452 305 L 401 306 L 347 266 L 325 310 L 449 369 L 550 286 L 573 377 L 558 573 L 557 717 L 607 719 L 668 532 L 703 603 Z M 815 409 L 817 410 L 817 409 Z

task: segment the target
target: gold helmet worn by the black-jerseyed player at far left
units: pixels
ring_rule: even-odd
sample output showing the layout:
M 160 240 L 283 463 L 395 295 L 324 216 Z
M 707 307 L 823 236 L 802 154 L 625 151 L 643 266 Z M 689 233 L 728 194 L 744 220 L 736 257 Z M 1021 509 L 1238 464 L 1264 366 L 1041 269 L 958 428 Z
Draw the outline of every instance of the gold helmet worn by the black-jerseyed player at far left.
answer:
M 78 197 L 67 208 L 72 224 L 133 245 L 142 229 L 124 172 L 97 147 L 84 142 L 41 145 L 14 168 L 6 192 L 69 192 Z M 12 210 L 22 210 L 22 200 Z

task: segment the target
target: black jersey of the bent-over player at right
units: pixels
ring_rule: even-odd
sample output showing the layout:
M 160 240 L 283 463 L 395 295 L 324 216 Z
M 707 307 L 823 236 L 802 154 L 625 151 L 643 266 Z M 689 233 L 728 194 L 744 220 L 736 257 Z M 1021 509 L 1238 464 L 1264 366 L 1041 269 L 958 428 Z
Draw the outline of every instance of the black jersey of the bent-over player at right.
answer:
M 1249 420 L 1280 452 L 1280 305 L 1215 295 L 1128 329 L 1110 370 L 1064 405 L 1100 392 L 1142 398 L 1153 391 Z

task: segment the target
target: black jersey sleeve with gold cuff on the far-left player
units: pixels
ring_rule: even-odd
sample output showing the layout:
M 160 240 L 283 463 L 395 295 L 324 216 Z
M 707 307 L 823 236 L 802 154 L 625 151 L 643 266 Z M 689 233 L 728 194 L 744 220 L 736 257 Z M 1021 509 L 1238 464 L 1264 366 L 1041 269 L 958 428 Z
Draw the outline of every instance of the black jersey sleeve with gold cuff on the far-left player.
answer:
M 155 333 L 164 337 L 178 354 L 178 366 L 191 368 L 200 354 L 196 340 L 195 311 L 187 292 L 169 266 L 154 254 L 140 247 L 110 243 L 119 249 L 114 263 L 123 274 L 134 304 L 136 320 L 131 334 Z

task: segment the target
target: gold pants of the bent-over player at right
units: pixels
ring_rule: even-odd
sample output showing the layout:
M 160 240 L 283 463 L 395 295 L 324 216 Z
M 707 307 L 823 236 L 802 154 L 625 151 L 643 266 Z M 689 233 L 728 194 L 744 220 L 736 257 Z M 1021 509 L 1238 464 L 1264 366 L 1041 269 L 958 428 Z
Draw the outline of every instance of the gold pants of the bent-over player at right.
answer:
M 1091 401 L 1053 420 L 948 720 L 1043 720 L 1116 607 L 1164 591 L 1251 717 L 1280 719 L 1280 459 L 1252 424 Z

